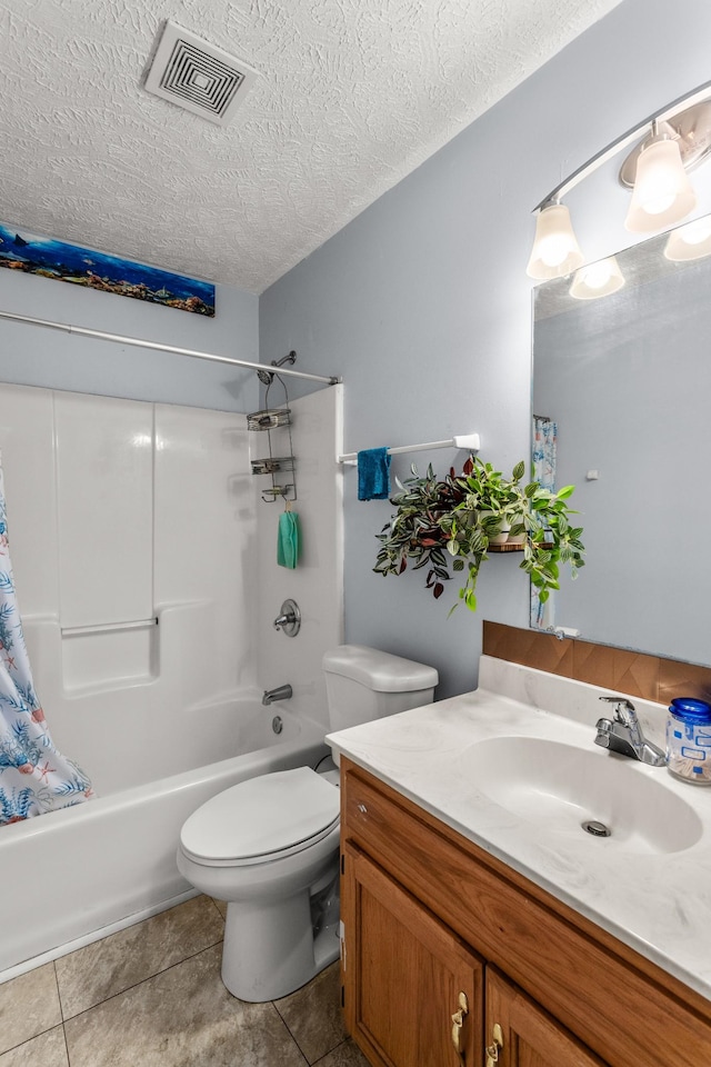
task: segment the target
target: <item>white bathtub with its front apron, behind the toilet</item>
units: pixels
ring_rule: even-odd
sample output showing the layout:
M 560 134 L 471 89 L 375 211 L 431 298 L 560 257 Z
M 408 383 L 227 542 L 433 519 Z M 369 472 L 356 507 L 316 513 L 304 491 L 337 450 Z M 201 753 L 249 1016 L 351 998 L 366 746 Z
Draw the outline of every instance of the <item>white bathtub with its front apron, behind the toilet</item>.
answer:
M 0 827 L 0 981 L 178 903 L 191 889 L 176 867 L 191 811 L 246 778 L 329 754 L 323 727 L 281 705 L 236 707 L 242 755 Z

